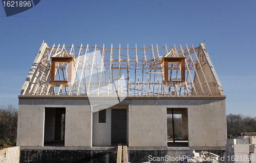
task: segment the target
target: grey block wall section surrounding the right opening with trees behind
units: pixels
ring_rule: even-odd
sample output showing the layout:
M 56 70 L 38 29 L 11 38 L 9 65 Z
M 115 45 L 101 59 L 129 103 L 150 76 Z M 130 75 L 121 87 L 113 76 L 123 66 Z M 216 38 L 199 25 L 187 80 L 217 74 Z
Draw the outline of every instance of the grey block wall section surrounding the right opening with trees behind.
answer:
M 166 108 L 187 108 L 183 133 L 193 149 L 225 149 L 225 100 L 138 99 L 129 106 L 129 146 L 167 146 Z M 183 120 L 186 118 L 182 116 Z M 184 121 L 183 121 L 184 122 Z M 186 126 L 187 125 L 187 126 Z M 184 131 L 187 131 L 184 132 Z M 160 143 L 161 142 L 161 143 Z

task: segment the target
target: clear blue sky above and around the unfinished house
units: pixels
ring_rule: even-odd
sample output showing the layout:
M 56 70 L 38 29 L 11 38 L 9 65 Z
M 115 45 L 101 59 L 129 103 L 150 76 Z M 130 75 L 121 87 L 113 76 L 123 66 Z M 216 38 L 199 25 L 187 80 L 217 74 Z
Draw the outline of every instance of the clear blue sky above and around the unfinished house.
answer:
M 6 17 L 0 5 L 0 105 L 18 106 L 42 40 L 49 46 L 107 47 L 197 47 L 205 40 L 227 96 L 227 114 L 254 117 L 255 6 L 256 1 L 44 0 Z

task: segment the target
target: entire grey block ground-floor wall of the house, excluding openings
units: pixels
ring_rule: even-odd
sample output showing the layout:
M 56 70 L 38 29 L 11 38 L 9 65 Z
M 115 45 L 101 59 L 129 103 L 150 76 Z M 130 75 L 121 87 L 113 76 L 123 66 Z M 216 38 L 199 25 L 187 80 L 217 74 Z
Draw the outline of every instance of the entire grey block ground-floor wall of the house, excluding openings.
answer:
M 222 150 L 226 144 L 225 98 L 128 98 L 107 109 L 106 124 L 97 123 L 98 112 L 92 113 L 88 99 L 20 98 L 17 146 L 43 146 L 45 107 L 66 108 L 65 147 L 110 146 L 111 108 L 127 108 L 129 147 L 167 147 L 166 109 L 172 107 L 187 109 L 183 130 L 190 149 Z

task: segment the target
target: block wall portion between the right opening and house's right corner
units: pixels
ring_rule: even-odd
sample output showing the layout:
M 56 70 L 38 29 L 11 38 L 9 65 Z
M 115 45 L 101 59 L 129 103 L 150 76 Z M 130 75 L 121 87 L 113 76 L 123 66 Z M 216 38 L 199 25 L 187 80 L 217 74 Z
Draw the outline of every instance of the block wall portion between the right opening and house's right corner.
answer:
M 180 102 L 188 106 L 190 101 Z M 225 100 L 196 100 L 188 106 L 189 147 L 225 149 L 227 139 Z

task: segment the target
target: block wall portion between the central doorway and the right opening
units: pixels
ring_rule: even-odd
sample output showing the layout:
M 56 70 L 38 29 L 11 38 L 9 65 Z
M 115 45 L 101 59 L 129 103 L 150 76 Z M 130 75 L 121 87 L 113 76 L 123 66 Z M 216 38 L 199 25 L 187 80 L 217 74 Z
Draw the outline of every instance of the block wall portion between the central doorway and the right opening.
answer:
M 167 146 L 166 107 L 157 100 L 133 100 L 129 105 L 129 147 Z

